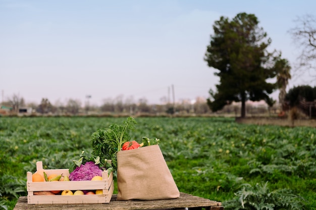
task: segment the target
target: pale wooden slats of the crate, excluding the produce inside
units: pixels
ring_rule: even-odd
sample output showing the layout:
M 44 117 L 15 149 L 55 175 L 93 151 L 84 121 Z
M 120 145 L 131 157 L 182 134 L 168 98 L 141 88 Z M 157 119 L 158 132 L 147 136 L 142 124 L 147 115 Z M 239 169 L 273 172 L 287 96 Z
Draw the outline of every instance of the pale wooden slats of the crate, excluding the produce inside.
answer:
M 42 171 L 41 161 L 36 162 L 36 171 Z M 69 169 L 44 169 L 47 176 L 50 174 L 63 174 L 69 176 Z M 113 172 L 102 172 L 102 180 L 97 181 L 54 181 L 33 182 L 32 172 L 27 172 L 27 202 L 28 204 L 74 204 L 74 203 L 109 203 L 114 190 Z M 51 190 L 97 190 L 102 189 L 103 194 L 89 195 L 34 195 L 34 191 Z

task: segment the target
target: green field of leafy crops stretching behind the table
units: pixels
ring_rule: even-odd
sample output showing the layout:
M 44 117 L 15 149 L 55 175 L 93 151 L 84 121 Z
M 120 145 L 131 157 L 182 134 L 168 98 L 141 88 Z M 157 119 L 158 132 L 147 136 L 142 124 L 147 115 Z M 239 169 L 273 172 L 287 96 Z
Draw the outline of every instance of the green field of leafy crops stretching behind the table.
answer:
M 96 129 L 125 119 L 0 117 L 0 209 L 13 209 L 27 194 L 26 172 L 35 171 L 36 161 L 69 168 L 82 150 L 91 153 Z M 221 201 L 225 209 L 316 209 L 315 128 L 245 125 L 234 118 L 135 119 L 133 139 L 161 139 L 181 192 Z

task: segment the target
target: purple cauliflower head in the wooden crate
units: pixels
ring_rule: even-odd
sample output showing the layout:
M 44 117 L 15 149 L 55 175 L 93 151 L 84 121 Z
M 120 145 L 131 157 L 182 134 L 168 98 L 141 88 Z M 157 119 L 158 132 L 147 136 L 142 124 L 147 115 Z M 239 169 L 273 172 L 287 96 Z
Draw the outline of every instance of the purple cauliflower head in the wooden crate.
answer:
M 86 181 L 91 180 L 94 176 L 102 176 L 102 170 L 93 161 L 81 164 L 73 172 L 69 174 L 71 181 Z

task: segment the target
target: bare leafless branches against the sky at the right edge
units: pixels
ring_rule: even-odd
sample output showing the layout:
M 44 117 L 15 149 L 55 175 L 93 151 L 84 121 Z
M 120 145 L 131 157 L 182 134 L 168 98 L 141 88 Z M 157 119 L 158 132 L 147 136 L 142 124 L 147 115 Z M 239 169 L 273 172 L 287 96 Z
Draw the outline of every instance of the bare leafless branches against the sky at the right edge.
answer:
M 316 77 L 316 18 L 304 15 L 294 20 L 296 26 L 289 30 L 294 43 L 300 48 L 297 70 L 308 71 Z

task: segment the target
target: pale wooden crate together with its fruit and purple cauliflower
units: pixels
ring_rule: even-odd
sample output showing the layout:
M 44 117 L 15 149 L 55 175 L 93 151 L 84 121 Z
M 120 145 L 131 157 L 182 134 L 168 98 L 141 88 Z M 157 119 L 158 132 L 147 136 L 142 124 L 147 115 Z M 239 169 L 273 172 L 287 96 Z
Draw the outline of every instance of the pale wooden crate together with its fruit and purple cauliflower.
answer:
M 82 178 L 82 179 L 85 179 L 86 181 L 85 180 L 71 180 L 70 173 L 74 171 L 74 170 L 71 170 L 72 168 L 43 170 L 42 162 L 41 161 L 36 162 L 37 171 L 34 174 L 32 172 L 27 172 L 28 203 L 29 204 L 50 204 L 50 203 L 70 204 L 70 203 L 77 203 L 78 199 L 80 199 L 80 203 L 81 202 L 82 203 L 108 203 L 110 202 L 111 196 L 113 194 L 113 173 L 111 171 L 110 172 L 111 176 L 110 176 L 109 171 L 105 171 L 106 169 L 108 169 L 108 165 L 106 166 L 106 164 L 104 164 L 104 161 L 100 163 L 99 157 L 92 158 L 93 161 L 91 161 L 90 159 L 88 161 L 85 161 L 85 160 L 83 160 L 82 162 L 80 161 L 82 164 L 79 164 L 79 166 L 76 164 L 76 167 L 74 167 L 74 169 L 78 168 L 76 172 L 78 172 L 79 168 L 81 169 L 85 168 L 84 171 L 86 173 L 81 174 L 81 176 L 76 173 L 74 173 L 74 175 L 75 177 L 77 176 L 76 178 Z M 108 162 L 107 160 L 106 160 L 106 163 L 111 164 L 111 162 Z M 84 165 L 86 165 L 86 167 L 82 167 Z M 94 170 L 88 170 L 91 168 Z M 104 176 L 103 171 L 107 172 L 108 176 L 107 175 Z M 84 178 L 84 176 L 87 176 L 87 178 Z M 102 176 L 104 177 L 102 178 Z M 93 185 L 95 185 L 95 188 L 93 187 L 93 189 L 91 189 L 92 181 L 90 181 L 92 178 L 93 180 L 101 180 L 99 182 L 93 183 Z M 67 183 L 60 183 L 61 181 L 63 182 L 67 181 Z M 76 182 L 72 182 L 72 181 L 76 181 Z M 79 183 L 77 181 L 85 181 L 85 182 Z M 36 182 L 42 182 L 42 183 L 36 183 Z M 106 185 L 104 186 L 104 184 Z M 76 188 L 80 190 L 77 190 Z M 65 190 L 65 189 L 68 189 L 68 190 Z M 98 194 L 103 194 L 103 190 L 108 190 L 109 194 L 96 196 L 95 189 L 100 189 L 98 191 Z M 47 190 L 47 191 L 44 191 L 44 190 Z M 85 194 L 90 195 L 90 196 L 81 196 Z M 57 196 L 49 196 L 47 198 L 43 198 L 43 195 L 57 195 Z M 62 195 L 64 198 L 61 199 L 59 195 Z M 65 195 L 77 195 L 77 196 L 65 196 Z

